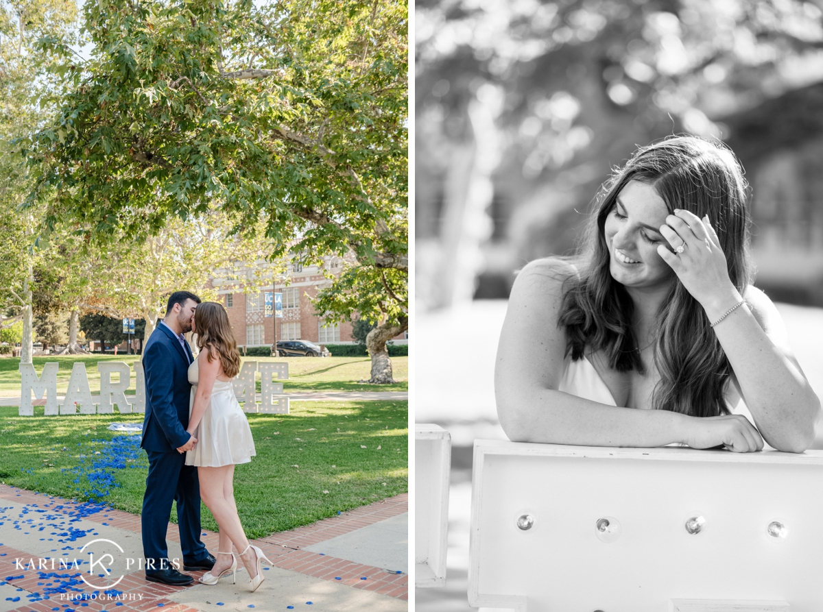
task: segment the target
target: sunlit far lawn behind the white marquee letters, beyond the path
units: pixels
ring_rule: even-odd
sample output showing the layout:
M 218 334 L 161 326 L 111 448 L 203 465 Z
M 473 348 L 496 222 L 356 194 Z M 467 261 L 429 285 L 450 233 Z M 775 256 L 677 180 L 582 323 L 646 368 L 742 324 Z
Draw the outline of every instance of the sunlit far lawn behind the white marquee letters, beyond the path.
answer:
M 67 355 L 63 357 L 35 357 L 35 371 L 40 375 L 46 362 L 57 361 L 60 369 L 57 375 L 58 393 L 66 392 L 72 366 L 76 362 L 86 364 L 86 376 L 92 393 L 100 392 L 98 361 L 124 361 L 130 366 L 140 359 L 139 355 Z M 286 361 L 289 364 L 289 379 L 283 381 L 285 392 L 312 391 L 408 391 L 408 357 L 393 357 L 393 385 L 369 385 L 357 381 L 370 378 L 371 361 L 368 357 L 247 357 L 250 361 Z M 4 357 L 0 359 L 0 396 L 16 396 L 20 393 L 20 359 Z M 260 375 L 258 374 L 258 391 Z M 134 378 L 127 394 L 134 394 Z

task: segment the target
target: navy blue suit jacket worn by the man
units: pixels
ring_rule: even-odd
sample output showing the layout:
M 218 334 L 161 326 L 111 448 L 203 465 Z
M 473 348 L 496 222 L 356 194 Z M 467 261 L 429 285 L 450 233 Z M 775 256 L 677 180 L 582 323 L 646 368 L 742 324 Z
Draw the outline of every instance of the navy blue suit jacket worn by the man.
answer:
M 146 450 L 176 452 L 188 442 L 188 401 L 192 391 L 188 364 L 191 361 L 188 343 L 184 350 L 174 332 L 158 323 L 143 349 L 146 416 L 140 445 Z

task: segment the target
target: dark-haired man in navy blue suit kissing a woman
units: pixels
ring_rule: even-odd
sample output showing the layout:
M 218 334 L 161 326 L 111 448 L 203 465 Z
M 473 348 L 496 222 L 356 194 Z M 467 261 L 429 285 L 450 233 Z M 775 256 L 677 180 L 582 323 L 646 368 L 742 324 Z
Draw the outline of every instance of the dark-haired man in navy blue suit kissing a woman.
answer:
M 143 349 L 146 373 L 146 416 L 141 446 L 149 456 L 149 475 L 141 515 L 146 580 L 170 585 L 193 582 L 169 560 L 165 532 L 171 503 L 177 503 L 180 548 L 187 571 L 212 569 L 214 557 L 200 541 L 200 483 L 198 469 L 185 465 L 186 451 L 197 438 L 188 427 L 188 366 L 192 352 L 184 334 L 191 332 L 194 310 L 200 298 L 188 291 L 169 297 L 165 318 L 151 333 Z

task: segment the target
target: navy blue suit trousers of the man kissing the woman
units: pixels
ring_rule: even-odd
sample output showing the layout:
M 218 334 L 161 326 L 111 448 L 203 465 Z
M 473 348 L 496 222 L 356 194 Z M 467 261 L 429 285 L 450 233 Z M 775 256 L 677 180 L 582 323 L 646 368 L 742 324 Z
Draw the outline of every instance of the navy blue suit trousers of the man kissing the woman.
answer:
M 149 456 L 149 475 L 143 496 L 141 515 L 143 555 L 154 559 L 154 570 L 160 569 L 160 559 L 169 559 L 165 532 L 171 517 L 171 503 L 177 503 L 177 522 L 180 530 L 180 549 L 185 562 L 206 559 L 206 546 L 200 541 L 200 482 L 198 468 L 185 465 L 186 453 L 157 452 L 146 449 Z M 168 562 L 165 564 L 168 567 Z

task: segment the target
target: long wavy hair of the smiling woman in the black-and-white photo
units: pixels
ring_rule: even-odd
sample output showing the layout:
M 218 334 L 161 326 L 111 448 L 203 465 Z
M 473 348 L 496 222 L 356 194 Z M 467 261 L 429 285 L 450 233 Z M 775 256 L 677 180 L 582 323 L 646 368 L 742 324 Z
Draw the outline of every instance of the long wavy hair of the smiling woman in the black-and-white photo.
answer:
M 559 325 L 568 337 L 566 355 L 581 359 L 585 350 L 603 350 L 612 369 L 644 372 L 632 332 L 634 306 L 625 287 L 611 277 L 604 227 L 616 197 L 629 181 L 651 186 L 670 214 L 675 208 L 709 216 L 726 255 L 728 275 L 742 294 L 751 281 L 746 180 L 737 158 L 719 142 L 668 137 L 639 149 L 603 183 L 584 236 L 579 276 L 565 281 Z M 703 308 L 672 275 L 658 312 L 654 365 L 660 381 L 653 407 L 684 415 L 727 412 L 723 391 L 732 373 Z M 198 307 L 199 310 L 199 307 Z

